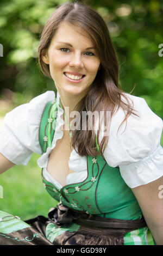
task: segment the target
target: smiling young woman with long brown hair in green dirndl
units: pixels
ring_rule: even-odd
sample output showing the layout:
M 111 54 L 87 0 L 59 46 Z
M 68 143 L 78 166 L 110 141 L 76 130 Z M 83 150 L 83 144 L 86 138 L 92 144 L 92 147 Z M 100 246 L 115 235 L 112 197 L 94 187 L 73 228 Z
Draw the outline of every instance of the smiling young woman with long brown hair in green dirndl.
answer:
M 141 97 L 119 89 L 102 17 L 84 4 L 60 5 L 43 28 L 38 58 L 57 95 L 48 91 L 5 115 L 0 172 L 42 154 L 43 185 L 59 204 L 48 218 L 27 222 L 0 211 L 0 244 L 163 245 L 162 120 Z M 82 129 L 82 114 L 94 111 L 103 118 Z

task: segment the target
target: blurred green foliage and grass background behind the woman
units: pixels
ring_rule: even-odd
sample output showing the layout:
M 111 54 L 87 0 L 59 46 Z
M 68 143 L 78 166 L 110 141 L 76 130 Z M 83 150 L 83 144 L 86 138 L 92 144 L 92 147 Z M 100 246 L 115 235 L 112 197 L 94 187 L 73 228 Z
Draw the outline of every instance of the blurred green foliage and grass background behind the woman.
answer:
M 54 90 L 53 80 L 41 74 L 37 64 L 40 31 L 61 0 L 1 0 L 0 3 L 0 127 L 5 113 Z M 74 1 L 69 1 L 74 2 Z M 143 97 L 163 118 L 162 1 L 78 1 L 91 5 L 108 25 L 120 63 L 120 84 L 125 92 Z M 0 142 L 1 143 L 1 142 Z M 163 145 L 163 136 L 161 138 Z M 33 154 L 27 166 L 3 173 L 0 209 L 22 219 L 47 215 L 56 202 L 42 186 L 41 169 Z

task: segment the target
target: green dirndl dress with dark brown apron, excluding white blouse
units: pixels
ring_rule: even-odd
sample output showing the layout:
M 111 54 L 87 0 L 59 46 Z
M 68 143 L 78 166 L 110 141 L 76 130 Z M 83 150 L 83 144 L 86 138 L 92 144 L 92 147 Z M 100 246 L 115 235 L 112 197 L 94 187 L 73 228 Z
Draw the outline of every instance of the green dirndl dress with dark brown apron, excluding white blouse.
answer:
M 0 245 L 155 245 L 137 200 L 119 169 L 110 167 L 99 155 L 88 156 L 87 166 L 86 180 L 61 189 L 42 174 L 47 192 L 59 202 L 49 210 L 47 217 L 22 221 L 0 211 Z M 118 204 L 123 198 L 120 206 L 116 203 L 120 212 L 123 209 L 127 212 L 130 204 L 132 214 L 136 212 L 139 218 L 108 217 L 111 193 Z

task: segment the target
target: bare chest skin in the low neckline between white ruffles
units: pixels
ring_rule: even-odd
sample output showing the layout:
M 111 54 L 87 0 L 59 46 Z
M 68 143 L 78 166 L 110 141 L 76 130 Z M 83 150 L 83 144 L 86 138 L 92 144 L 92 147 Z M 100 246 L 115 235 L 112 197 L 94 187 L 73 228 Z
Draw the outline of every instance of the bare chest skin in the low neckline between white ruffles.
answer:
M 49 155 L 47 164 L 47 172 L 62 186 L 66 185 L 67 175 L 73 173 L 73 170 L 68 166 L 72 150 L 68 131 L 63 130 L 63 136 L 57 140 L 54 149 Z

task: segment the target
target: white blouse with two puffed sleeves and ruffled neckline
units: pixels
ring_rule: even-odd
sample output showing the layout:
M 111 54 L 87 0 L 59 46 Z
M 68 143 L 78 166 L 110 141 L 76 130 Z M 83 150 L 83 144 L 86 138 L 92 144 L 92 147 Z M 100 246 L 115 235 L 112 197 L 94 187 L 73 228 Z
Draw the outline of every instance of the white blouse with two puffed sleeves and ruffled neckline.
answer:
M 120 167 L 120 173 L 126 184 L 133 188 L 148 184 L 163 175 L 163 149 L 160 145 L 162 133 L 162 119 L 148 107 L 141 97 L 128 96 L 134 103 L 139 117 L 130 115 L 121 125 L 124 112 L 122 108 L 111 119 L 109 141 L 104 150 L 106 162 L 111 167 Z M 4 125 L 0 130 L 0 153 L 15 164 L 27 165 L 32 153 L 42 154 L 39 143 L 39 127 L 43 109 L 48 101 L 55 99 L 53 91 L 47 91 L 34 97 L 29 103 L 14 108 L 4 117 Z M 59 93 L 57 93 L 57 126 L 52 141 L 37 160 L 39 167 L 43 168 L 45 178 L 61 188 L 46 170 L 49 154 L 55 147 L 57 139 L 62 138 L 60 126 L 64 124 L 61 118 L 63 110 L 59 106 Z M 118 127 L 121 125 L 119 132 Z M 126 127 L 126 130 L 124 131 Z M 74 171 L 67 175 L 66 184 L 82 182 L 87 176 L 86 156 L 79 156 L 72 151 L 68 161 L 70 169 Z

